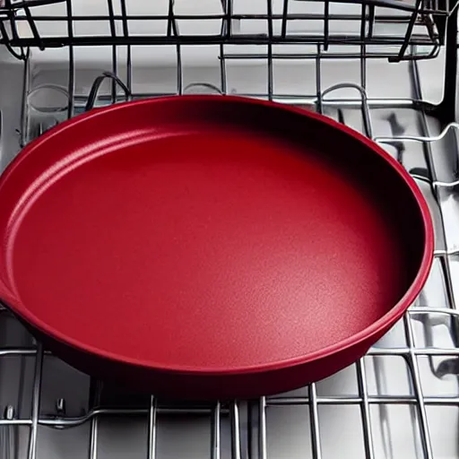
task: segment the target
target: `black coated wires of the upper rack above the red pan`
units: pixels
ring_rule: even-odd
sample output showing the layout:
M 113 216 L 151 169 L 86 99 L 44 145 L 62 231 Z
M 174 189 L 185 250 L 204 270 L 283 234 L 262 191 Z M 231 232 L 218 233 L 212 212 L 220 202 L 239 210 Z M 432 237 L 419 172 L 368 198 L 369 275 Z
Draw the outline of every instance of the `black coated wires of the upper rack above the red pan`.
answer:
M 108 2 L 108 16 L 104 15 L 78 15 L 67 18 L 72 22 L 79 21 L 109 21 L 110 22 L 110 33 L 106 35 L 98 36 L 74 36 L 74 35 L 63 35 L 59 36 L 45 36 L 43 33 L 39 33 L 39 22 L 59 22 L 63 21 L 62 17 L 52 15 L 38 15 L 33 14 L 34 5 L 38 4 L 56 4 L 64 0 L 39 0 L 34 2 L 17 2 L 12 3 L 11 0 L 6 0 L 5 6 L 2 9 L 2 13 L 5 14 L 11 22 L 11 32 L 2 33 L 0 43 L 4 43 L 12 51 L 13 56 L 24 59 L 25 55 L 22 53 L 15 52 L 15 47 L 39 47 L 39 48 L 57 48 L 64 46 L 144 46 L 144 45 L 221 45 L 221 44 L 254 44 L 254 45 L 274 45 L 281 43 L 305 43 L 305 44 L 321 44 L 324 46 L 324 51 L 328 50 L 328 47 L 333 45 L 387 45 L 394 48 L 394 51 L 389 54 L 389 58 L 392 61 L 399 60 L 420 60 L 420 59 L 431 59 L 437 56 L 440 50 L 440 43 L 444 40 L 445 28 L 439 27 L 437 32 L 436 15 L 446 15 L 450 11 L 453 11 L 455 6 L 454 0 L 451 4 L 445 7 L 444 10 L 433 11 L 434 15 L 429 16 L 428 13 L 432 13 L 431 8 L 436 6 L 436 2 L 429 0 L 417 0 L 416 4 L 406 4 L 405 2 L 399 2 L 396 0 L 355 0 L 355 3 L 363 5 L 362 13 L 356 14 L 332 14 L 330 13 L 330 2 L 325 0 L 323 13 L 289 13 L 289 0 L 283 0 L 281 13 L 233 13 L 233 2 L 232 0 L 221 0 L 223 12 L 221 15 L 211 14 L 182 14 L 178 15 L 174 12 L 173 0 L 169 0 L 169 13 L 164 14 L 145 14 L 130 16 L 126 11 L 126 0 L 119 0 L 121 5 L 121 13 L 115 14 L 113 8 L 113 2 Z M 393 8 L 405 12 L 400 15 L 378 15 L 376 18 L 375 7 L 384 6 L 386 8 Z M 24 13 L 18 13 L 23 9 Z M 22 11 L 22 10 L 21 10 Z M 416 23 L 419 14 L 423 14 L 424 22 L 422 22 L 423 30 L 422 33 L 413 35 L 412 30 Z M 202 20 L 215 20 L 215 18 L 221 19 L 221 33 L 217 35 L 193 35 L 193 36 L 181 36 L 178 31 L 178 20 L 181 19 L 193 19 L 194 21 Z M 244 20 L 268 20 L 268 21 L 280 21 L 281 33 L 275 36 L 269 36 L 269 34 L 236 34 L 232 33 L 232 26 L 234 21 Z M 167 33 L 164 35 L 136 35 L 134 37 L 129 36 L 128 23 L 135 21 L 164 21 L 168 22 Z M 316 21 L 322 20 L 324 22 L 324 30 L 322 36 L 317 36 L 314 33 L 309 33 L 307 30 L 301 34 L 289 34 L 287 30 L 287 22 L 295 20 L 304 21 Z M 330 24 L 332 21 L 355 21 L 361 22 L 359 32 L 353 32 L 351 34 L 333 34 L 330 35 Z M 391 22 L 403 22 L 407 24 L 407 30 L 404 36 L 402 35 L 379 35 L 375 36 L 374 25 L 376 20 L 381 24 Z M 17 23 L 27 21 L 30 23 L 31 36 L 19 36 Z M 65 19 L 64 19 L 65 21 Z M 123 33 L 117 34 L 117 22 L 120 22 L 123 27 Z M 445 20 L 443 20 L 444 22 Z M 368 23 L 368 25 L 367 25 Z M 5 32 L 3 27 L 1 31 Z M 422 52 L 412 53 L 409 51 L 411 45 L 421 45 Z M 398 47 L 398 50 L 395 49 Z M 427 48 L 429 47 L 429 48 Z M 420 48 L 419 48 L 420 49 Z M 116 49 L 113 50 L 115 54 Z M 371 50 L 368 50 L 371 52 Z M 377 54 L 377 53 L 376 53 Z M 379 56 L 385 56 L 387 53 L 379 52 Z M 114 59 L 115 60 L 115 59 Z M 112 69 L 114 70 L 114 69 Z

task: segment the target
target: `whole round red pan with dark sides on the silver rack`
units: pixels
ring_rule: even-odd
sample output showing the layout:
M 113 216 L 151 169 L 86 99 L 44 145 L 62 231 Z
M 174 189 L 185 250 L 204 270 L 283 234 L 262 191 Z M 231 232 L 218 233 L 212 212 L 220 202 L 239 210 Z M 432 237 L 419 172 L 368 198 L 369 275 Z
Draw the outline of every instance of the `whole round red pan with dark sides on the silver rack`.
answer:
M 57 355 L 168 396 L 252 397 L 359 359 L 416 298 L 428 207 L 327 117 L 223 96 L 95 109 L 0 178 L 0 298 Z

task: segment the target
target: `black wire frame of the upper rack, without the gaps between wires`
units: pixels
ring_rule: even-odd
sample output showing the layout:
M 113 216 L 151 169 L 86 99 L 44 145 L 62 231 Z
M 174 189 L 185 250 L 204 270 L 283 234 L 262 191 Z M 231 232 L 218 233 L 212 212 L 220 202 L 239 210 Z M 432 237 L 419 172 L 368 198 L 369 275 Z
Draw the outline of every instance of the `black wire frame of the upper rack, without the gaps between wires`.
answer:
M 330 45 L 376 45 L 393 48 L 390 60 L 398 62 L 411 59 L 429 59 L 437 56 L 439 48 L 444 44 L 446 28 L 445 18 L 455 10 L 457 0 L 414 0 L 412 4 L 400 0 L 355 0 L 339 3 L 360 4 L 360 14 L 332 13 L 330 0 L 323 0 L 323 13 L 290 13 L 289 5 L 293 0 L 284 0 L 281 13 L 273 13 L 272 0 L 266 0 L 266 13 L 234 13 L 232 0 L 221 0 L 221 14 L 178 14 L 174 8 L 174 0 L 169 0 L 169 10 L 157 15 L 130 15 L 126 0 L 117 0 L 120 13 L 115 13 L 113 0 L 106 0 L 108 13 L 105 15 L 76 15 L 72 8 L 73 0 L 23 0 L 14 2 L 4 0 L 0 8 L 0 43 L 7 46 L 13 55 L 24 59 L 27 48 L 62 48 L 72 46 L 117 46 L 117 45 L 224 45 L 224 44 L 255 44 L 276 45 L 314 44 L 323 45 L 326 51 Z M 64 16 L 40 15 L 38 6 L 49 4 L 65 4 Z M 376 13 L 377 8 L 384 8 L 384 13 Z M 388 11 L 399 13 L 391 15 Z M 196 22 L 220 20 L 220 33 L 214 35 L 185 35 L 180 33 L 178 22 L 192 20 Z M 233 23 L 255 20 L 267 24 L 266 33 L 240 34 L 233 30 Z M 106 35 L 78 36 L 74 33 L 77 22 L 109 23 Z M 130 33 L 130 24 L 136 21 L 167 22 L 166 32 L 162 35 L 134 35 Z M 323 32 L 289 33 L 289 25 L 298 21 L 321 21 Z M 359 32 L 332 34 L 330 23 L 350 21 L 359 23 Z M 19 33 L 21 22 L 27 22 L 30 28 L 28 36 Z M 42 22 L 66 22 L 68 33 L 61 36 L 44 36 L 39 32 Z M 277 32 L 273 23 L 280 24 Z M 378 36 L 375 24 L 402 23 L 406 26 L 404 34 Z M 121 31 L 116 24 L 121 24 Z M 415 31 L 423 30 L 423 33 Z M 17 51 L 17 48 L 20 51 Z M 420 52 L 419 50 L 424 51 Z M 413 50 L 417 50 L 416 53 Z

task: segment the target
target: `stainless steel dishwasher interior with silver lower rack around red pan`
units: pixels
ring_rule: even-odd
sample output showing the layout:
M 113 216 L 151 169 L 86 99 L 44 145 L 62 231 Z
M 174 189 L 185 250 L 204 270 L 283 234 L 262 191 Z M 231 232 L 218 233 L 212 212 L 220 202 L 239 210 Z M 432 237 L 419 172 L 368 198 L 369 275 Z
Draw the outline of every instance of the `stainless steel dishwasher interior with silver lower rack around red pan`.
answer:
M 254 401 L 192 404 L 121 393 L 48 353 L 2 308 L 0 459 L 459 456 L 457 127 L 428 109 L 444 97 L 446 52 L 388 63 L 381 49 L 373 56 L 358 45 L 176 40 L 32 47 L 24 61 L 1 48 L 1 169 L 22 144 L 81 112 L 103 72 L 128 82 L 132 97 L 216 87 L 316 109 L 377 140 L 416 179 L 437 240 L 420 298 L 368 356 L 324 381 Z M 107 81 L 98 104 L 123 97 Z

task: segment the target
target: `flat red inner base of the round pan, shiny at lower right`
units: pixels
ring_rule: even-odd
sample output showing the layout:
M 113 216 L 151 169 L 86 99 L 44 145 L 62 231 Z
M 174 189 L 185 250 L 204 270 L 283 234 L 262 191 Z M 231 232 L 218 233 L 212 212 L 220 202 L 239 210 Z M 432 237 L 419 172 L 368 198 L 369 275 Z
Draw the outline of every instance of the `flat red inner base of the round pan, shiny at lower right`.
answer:
M 359 333 L 407 288 L 400 216 L 333 154 L 238 122 L 94 147 L 17 217 L 22 303 L 159 368 L 255 368 Z

